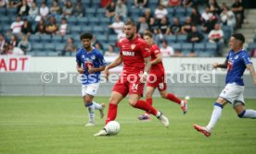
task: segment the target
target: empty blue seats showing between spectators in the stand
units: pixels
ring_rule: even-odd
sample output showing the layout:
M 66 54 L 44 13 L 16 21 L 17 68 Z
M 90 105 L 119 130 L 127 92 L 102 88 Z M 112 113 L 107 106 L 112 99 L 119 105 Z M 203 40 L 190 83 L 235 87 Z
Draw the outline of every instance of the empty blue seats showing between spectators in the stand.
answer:
M 116 1 L 113 0 L 115 3 Z M 40 8 L 41 4 L 45 2 L 46 6 L 51 7 L 52 1 L 50 0 L 35 0 L 35 3 L 38 8 Z M 70 2 L 74 5 L 76 0 L 70 0 Z M 61 9 L 64 4 L 63 1 L 58 1 Z M 107 47 L 110 44 L 116 44 L 117 42 L 117 34 L 108 35 L 108 25 L 111 24 L 114 18 L 105 17 L 106 8 L 101 7 L 101 0 L 86 0 L 82 1 L 84 8 L 84 16 L 83 17 L 75 17 L 70 16 L 67 18 L 68 27 L 70 28 L 70 33 L 62 36 L 58 34 L 36 34 L 32 33 L 29 36 L 29 41 L 32 43 L 32 51 L 27 54 L 31 54 L 32 56 L 58 56 L 59 53 L 63 49 L 63 44 L 66 40 L 71 36 L 74 39 L 74 43 L 79 46 L 80 44 L 80 34 L 84 31 L 92 31 L 94 35 L 96 35 L 96 40 L 100 41 L 103 44 L 104 51 L 107 50 Z M 204 11 L 204 6 L 207 6 L 208 0 L 197 0 L 194 1 L 193 6 L 197 6 L 200 13 Z M 134 1 L 125 1 L 125 5 L 128 10 L 128 18 L 133 18 L 134 21 L 138 21 L 141 16 L 144 16 L 144 12 L 146 8 L 138 8 L 134 7 Z M 148 8 L 151 9 L 151 13 L 153 14 L 157 6 L 159 6 L 159 0 L 148 0 L 147 4 Z M 219 4 L 220 6 L 220 4 Z M 181 24 L 183 24 L 186 20 L 186 17 L 189 17 L 192 13 L 192 7 L 185 6 L 175 6 L 175 7 L 167 7 L 169 18 L 169 24 L 173 24 L 173 18 L 179 18 Z M 18 16 L 18 9 L 16 7 L 0 7 L 0 14 L 5 15 L 0 18 L 0 32 L 5 35 L 6 41 L 8 40 L 10 25 L 15 18 Z M 51 16 L 55 16 L 58 22 L 58 26 L 61 23 L 60 15 L 51 15 L 49 14 L 47 18 L 45 18 L 45 23 L 48 23 L 48 18 Z M 216 18 L 219 18 L 218 22 L 221 22 L 220 15 L 213 14 Z M 27 18 L 32 23 L 32 29 L 34 30 L 38 20 L 35 18 L 30 18 L 26 16 L 22 16 L 22 19 Z M 154 17 L 152 17 L 154 18 Z M 147 21 L 148 25 L 150 21 Z M 207 21 L 202 21 L 207 22 Z M 158 24 L 158 23 L 157 23 Z M 152 25 L 150 25 L 152 27 Z M 153 25 L 156 29 L 158 29 L 158 25 Z M 204 35 L 204 40 L 198 42 L 196 44 L 191 44 L 186 42 L 186 34 L 177 34 L 177 35 L 167 35 L 163 39 L 168 41 L 171 44 L 175 51 L 182 52 L 185 56 L 187 53 L 193 51 L 197 56 L 215 56 L 214 50 L 216 50 L 216 44 L 212 44 L 208 41 L 208 34 L 203 33 L 201 30 L 201 25 L 197 25 L 198 31 Z M 222 30 L 224 30 L 224 44 L 227 45 L 227 42 L 233 32 L 230 26 L 222 24 Z M 20 39 L 21 37 L 19 37 Z M 47 45 L 45 45 L 47 44 Z M 160 44 L 159 44 L 160 45 Z M 118 47 L 116 47 L 117 49 Z M 256 48 L 256 37 L 254 38 L 254 42 L 251 42 L 248 46 L 249 51 Z M 115 51 L 118 51 L 116 50 Z M 2 53 L 4 54 L 4 53 Z

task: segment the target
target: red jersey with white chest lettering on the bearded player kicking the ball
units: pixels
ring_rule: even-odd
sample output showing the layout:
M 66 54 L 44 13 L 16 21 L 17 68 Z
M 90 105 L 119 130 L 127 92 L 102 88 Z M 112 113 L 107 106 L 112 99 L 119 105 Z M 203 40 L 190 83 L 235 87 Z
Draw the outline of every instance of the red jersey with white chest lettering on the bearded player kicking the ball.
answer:
M 144 58 L 150 56 L 147 42 L 138 36 L 132 41 L 125 38 L 120 42 L 120 47 L 123 62 L 122 75 L 143 73 Z

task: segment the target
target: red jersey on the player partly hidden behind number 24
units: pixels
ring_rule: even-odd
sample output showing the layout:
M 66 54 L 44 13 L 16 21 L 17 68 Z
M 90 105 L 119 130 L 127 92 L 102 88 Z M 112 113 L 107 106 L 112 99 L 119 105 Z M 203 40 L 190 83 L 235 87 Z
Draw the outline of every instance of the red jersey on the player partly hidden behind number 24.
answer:
M 150 47 L 150 56 L 151 56 L 151 61 L 155 60 L 157 58 L 157 54 L 160 54 L 160 48 L 158 45 L 153 44 Z M 164 67 L 162 65 L 162 62 L 156 64 L 156 65 L 151 65 L 150 68 L 150 74 L 154 74 L 157 76 L 162 76 L 164 75 Z

